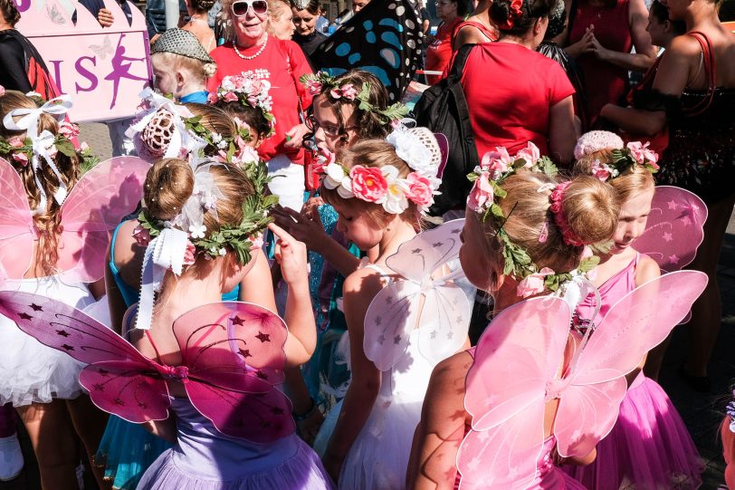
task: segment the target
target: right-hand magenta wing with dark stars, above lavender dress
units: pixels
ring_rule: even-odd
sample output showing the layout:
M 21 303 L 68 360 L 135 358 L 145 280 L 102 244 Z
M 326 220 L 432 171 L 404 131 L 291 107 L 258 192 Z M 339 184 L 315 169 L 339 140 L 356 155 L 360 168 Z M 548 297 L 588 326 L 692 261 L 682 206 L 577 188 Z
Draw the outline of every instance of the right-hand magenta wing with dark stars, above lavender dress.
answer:
M 217 430 L 253 442 L 293 433 L 283 380 L 288 335 L 275 313 L 252 303 L 213 303 L 174 322 L 192 404 Z

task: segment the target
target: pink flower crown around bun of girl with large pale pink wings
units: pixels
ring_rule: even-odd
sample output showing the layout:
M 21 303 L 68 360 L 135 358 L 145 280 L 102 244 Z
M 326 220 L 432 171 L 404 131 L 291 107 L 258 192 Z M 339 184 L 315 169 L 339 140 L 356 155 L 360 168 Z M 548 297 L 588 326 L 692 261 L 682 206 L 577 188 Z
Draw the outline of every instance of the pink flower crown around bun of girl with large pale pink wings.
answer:
M 594 255 L 586 256 L 576 270 L 557 274 L 548 267 L 539 270 L 539 267 L 533 263 L 526 249 L 513 243 L 511 237 L 504 229 L 505 222 L 510 217 L 510 213 L 509 216 L 505 216 L 498 203 L 508 195 L 501 187 L 502 183 L 506 178 L 515 175 L 521 169 L 531 172 L 541 172 L 550 178 L 554 178 L 558 174 L 558 169 L 551 159 L 546 156 L 541 157 L 539 149 L 532 142 L 529 142 L 526 148 L 520 149 L 514 157 L 509 155 L 507 149 L 496 147 L 494 150 L 486 153 L 482 157 L 480 166 L 474 168 L 474 171 L 467 176 L 470 181 L 474 182 L 470 196 L 467 198 L 467 207 L 477 213 L 483 223 L 488 219 L 492 219 L 495 228 L 498 230 L 497 236 L 502 245 L 502 256 L 504 259 L 503 274 L 511 275 L 520 280 L 517 293 L 519 296 L 525 298 L 532 294 L 541 293 L 544 289 L 558 291 L 563 283 L 595 268 L 599 262 L 599 257 Z M 564 241 L 568 245 L 578 246 L 582 245 L 582 243 L 578 242 L 578 238 L 574 237 L 571 230 L 568 229 L 568 226 L 565 224 L 565 217 L 561 211 L 561 199 L 567 187 L 567 182 L 558 186 L 549 184 L 539 187 L 538 191 L 553 190 L 549 196 L 549 201 L 551 202 L 549 209 L 554 215 L 555 223 L 562 223 L 562 225 L 559 225 L 559 228 L 561 229 Z M 545 224 L 539 235 L 539 242 L 545 242 L 547 237 L 548 224 Z

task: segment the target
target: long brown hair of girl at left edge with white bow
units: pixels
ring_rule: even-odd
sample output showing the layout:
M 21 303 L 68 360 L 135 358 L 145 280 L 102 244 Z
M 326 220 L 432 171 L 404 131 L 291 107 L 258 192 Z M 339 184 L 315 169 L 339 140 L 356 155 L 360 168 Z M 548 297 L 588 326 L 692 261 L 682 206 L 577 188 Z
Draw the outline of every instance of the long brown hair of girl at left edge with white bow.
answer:
M 0 96 L 0 120 L 14 109 L 36 109 L 37 104 L 26 97 L 19 91 L 5 91 L 5 95 Z M 49 114 L 42 113 L 38 119 L 38 133 L 44 130 L 57 134 L 59 132 L 59 123 Z M 0 124 L 0 137 L 4 139 L 14 136 L 23 135 L 24 131 L 6 130 L 5 126 Z M 28 204 L 31 209 L 35 209 L 41 203 L 41 190 L 36 186 L 35 174 L 31 165 L 22 165 L 14 159 L 8 159 L 11 165 L 18 172 L 18 175 L 25 187 L 25 195 L 28 197 Z M 41 159 L 41 169 L 38 180 L 41 182 L 43 192 L 46 195 L 46 208 L 33 216 L 33 224 L 38 229 L 38 247 L 36 249 L 35 264 L 40 266 L 43 274 L 52 275 L 56 272 L 56 262 L 59 260 L 57 250 L 59 239 L 59 223 L 61 216 L 59 209 L 61 206 L 56 203 L 53 194 L 59 189 L 60 182 L 52 169 Z M 71 190 L 81 177 L 80 159 L 77 156 L 67 157 L 61 151 L 57 151 L 53 157 L 53 163 L 62 174 L 63 184 Z

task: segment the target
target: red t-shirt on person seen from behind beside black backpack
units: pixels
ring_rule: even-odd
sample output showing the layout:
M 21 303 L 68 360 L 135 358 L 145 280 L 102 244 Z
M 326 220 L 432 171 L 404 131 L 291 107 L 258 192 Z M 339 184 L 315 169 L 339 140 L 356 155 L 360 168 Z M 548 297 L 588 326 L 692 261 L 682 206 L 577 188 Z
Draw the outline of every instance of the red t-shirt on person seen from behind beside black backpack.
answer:
M 549 154 L 551 106 L 574 93 L 558 62 L 513 43 L 482 43 L 464 65 L 462 85 L 478 155 L 511 155 L 528 141 Z

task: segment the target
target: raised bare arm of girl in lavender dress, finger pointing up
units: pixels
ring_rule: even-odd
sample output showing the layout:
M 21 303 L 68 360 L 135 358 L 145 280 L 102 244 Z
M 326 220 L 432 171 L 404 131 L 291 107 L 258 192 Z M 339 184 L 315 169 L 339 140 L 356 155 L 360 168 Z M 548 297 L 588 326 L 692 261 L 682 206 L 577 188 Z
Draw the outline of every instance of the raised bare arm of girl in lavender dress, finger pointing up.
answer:
M 310 360 L 317 344 L 317 325 L 311 310 L 309 275 L 306 268 L 306 245 L 277 225 L 268 227 L 278 236 L 276 260 L 281 264 L 283 280 L 289 286 L 286 312 L 283 315 L 289 327 L 289 336 L 283 346 L 286 367 L 301 366 Z

